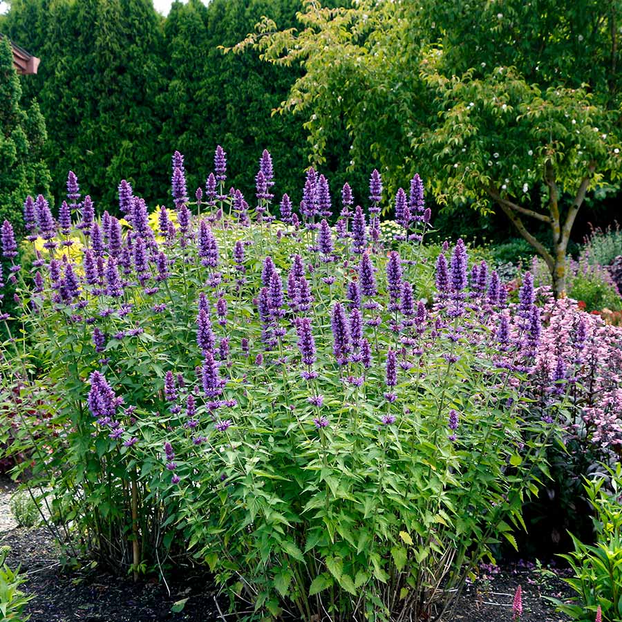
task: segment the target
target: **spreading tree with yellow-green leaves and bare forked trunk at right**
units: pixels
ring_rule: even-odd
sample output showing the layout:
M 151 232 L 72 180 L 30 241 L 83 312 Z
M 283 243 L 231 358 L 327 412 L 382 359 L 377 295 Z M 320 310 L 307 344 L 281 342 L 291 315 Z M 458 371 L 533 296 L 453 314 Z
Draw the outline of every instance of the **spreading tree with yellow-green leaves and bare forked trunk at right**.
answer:
M 283 109 L 306 115 L 317 160 L 344 117 L 390 189 L 420 172 L 449 209 L 498 205 L 560 293 L 578 209 L 620 176 L 620 15 L 620 0 L 306 0 L 303 29 L 266 18 L 237 49 L 301 64 Z

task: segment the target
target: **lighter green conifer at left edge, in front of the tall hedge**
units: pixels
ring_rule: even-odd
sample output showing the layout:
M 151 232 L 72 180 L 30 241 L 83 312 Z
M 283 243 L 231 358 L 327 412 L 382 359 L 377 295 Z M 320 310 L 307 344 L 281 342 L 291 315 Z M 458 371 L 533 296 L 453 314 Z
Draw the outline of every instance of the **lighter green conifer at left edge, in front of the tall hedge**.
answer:
M 0 40 L 0 223 L 11 220 L 19 228 L 28 194 L 47 194 L 50 173 L 41 152 L 46 124 L 39 105 L 20 105 L 21 84 L 13 67 L 8 39 Z

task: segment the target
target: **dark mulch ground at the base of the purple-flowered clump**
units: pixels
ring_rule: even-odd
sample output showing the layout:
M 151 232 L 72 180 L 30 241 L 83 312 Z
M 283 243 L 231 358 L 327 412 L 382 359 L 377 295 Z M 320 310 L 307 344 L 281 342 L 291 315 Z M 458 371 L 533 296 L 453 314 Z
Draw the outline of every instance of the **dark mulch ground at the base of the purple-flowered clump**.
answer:
M 21 564 L 28 577 L 24 589 L 34 593 L 28 613 L 31 622 L 216 622 L 214 587 L 205 574 L 169 576 L 169 596 L 161 582 L 133 583 L 94 569 L 64 572 L 58 551 L 45 529 L 13 529 L 0 536 L 9 545 L 8 562 Z M 521 622 L 565 622 L 543 596 L 567 596 L 559 578 L 541 578 L 527 565 L 484 572 L 469 585 L 446 622 L 511 622 L 511 603 L 518 585 L 523 590 Z M 176 601 L 188 599 L 182 612 L 173 613 Z M 225 603 L 219 601 L 225 612 Z M 225 612 L 226 613 L 226 612 Z M 228 616 L 227 616 L 228 617 Z

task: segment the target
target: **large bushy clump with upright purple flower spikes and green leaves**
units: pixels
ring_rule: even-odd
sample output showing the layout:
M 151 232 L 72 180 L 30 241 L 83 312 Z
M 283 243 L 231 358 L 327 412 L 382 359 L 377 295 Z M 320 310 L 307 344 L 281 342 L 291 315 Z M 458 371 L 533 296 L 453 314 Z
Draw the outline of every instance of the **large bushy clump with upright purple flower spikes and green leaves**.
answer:
M 97 219 L 73 173 L 58 220 L 26 200 L 29 240 L 44 243 L 31 274 L 10 270 L 12 326 L 36 339 L 6 343 L 18 362 L 3 373 L 49 394 L 38 415 L 59 433 L 20 429 L 57 524 L 134 573 L 187 548 L 263 616 L 437 619 L 491 545 L 513 543 L 565 413 L 559 369 L 540 365 L 540 401 L 526 382 L 533 281 L 509 305 L 459 240 L 426 305 L 418 176 L 395 197 L 388 252 L 377 171 L 368 215 L 345 185 L 330 227 L 313 169 L 299 213 L 285 195 L 276 220 L 267 151 L 254 207 L 225 191 L 220 148 L 214 164 L 189 202 L 173 156 L 174 222 L 165 207 L 150 220 L 125 181 L 129 228 Z M 8 223 L 2 246 L 14 261 Z M 591 338 L 569 335 L 577 352 Z

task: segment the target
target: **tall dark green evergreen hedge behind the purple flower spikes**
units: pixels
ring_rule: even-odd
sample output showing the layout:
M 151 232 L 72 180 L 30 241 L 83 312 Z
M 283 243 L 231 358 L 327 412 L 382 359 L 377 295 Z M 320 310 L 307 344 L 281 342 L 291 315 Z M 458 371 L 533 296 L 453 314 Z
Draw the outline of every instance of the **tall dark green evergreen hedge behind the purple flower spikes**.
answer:
M 298 120 L 273 117 L 272 109 L 297 70 L 266 67 L 252 55 L 225 57 L 218 46 L 245 37 L 268 10 L 290 25 L 298 8 L 297 0 L 207 7 L 191 0 L 173 3 L 164 19 L 151 0 L 12 0 L 3 29 L 41 58 L 22 86 L 46 117 L 55 193 L 73 169 L 88 179 L 95 201 L 112 205 L 121 178 L 143 188 L 148 201 L 165 198 L 162 171 L 173 149 L 193 164 L 194 191 L 205 183 L 200 163 L 217 141 L 234 154 L 236 187 L 252 189 L 256 153 L 267 145 L 284 189 L 293 191 L 305 135 Z

